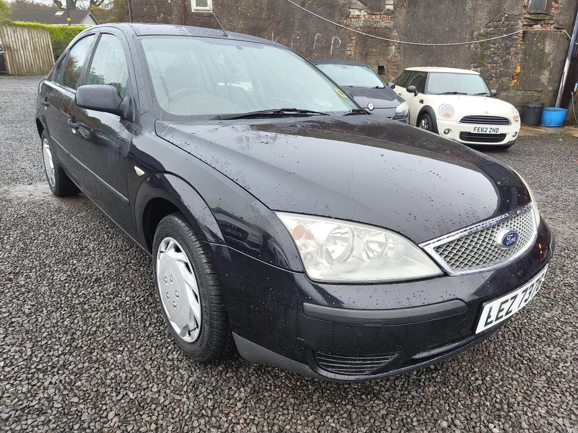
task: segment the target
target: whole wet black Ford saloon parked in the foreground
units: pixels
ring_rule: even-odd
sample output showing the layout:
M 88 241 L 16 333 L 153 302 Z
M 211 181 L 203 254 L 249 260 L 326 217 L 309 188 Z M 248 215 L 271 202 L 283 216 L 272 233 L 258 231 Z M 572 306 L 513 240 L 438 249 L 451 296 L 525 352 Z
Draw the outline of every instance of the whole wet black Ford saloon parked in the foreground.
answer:
M 525 307 L 553 255 L 514 170 L 366 113 L 269 40 L 91 27 L 40 81 L 36 125 L 50 189 L 82 191 L 152 257 L 195 361 L 423 367 Z

